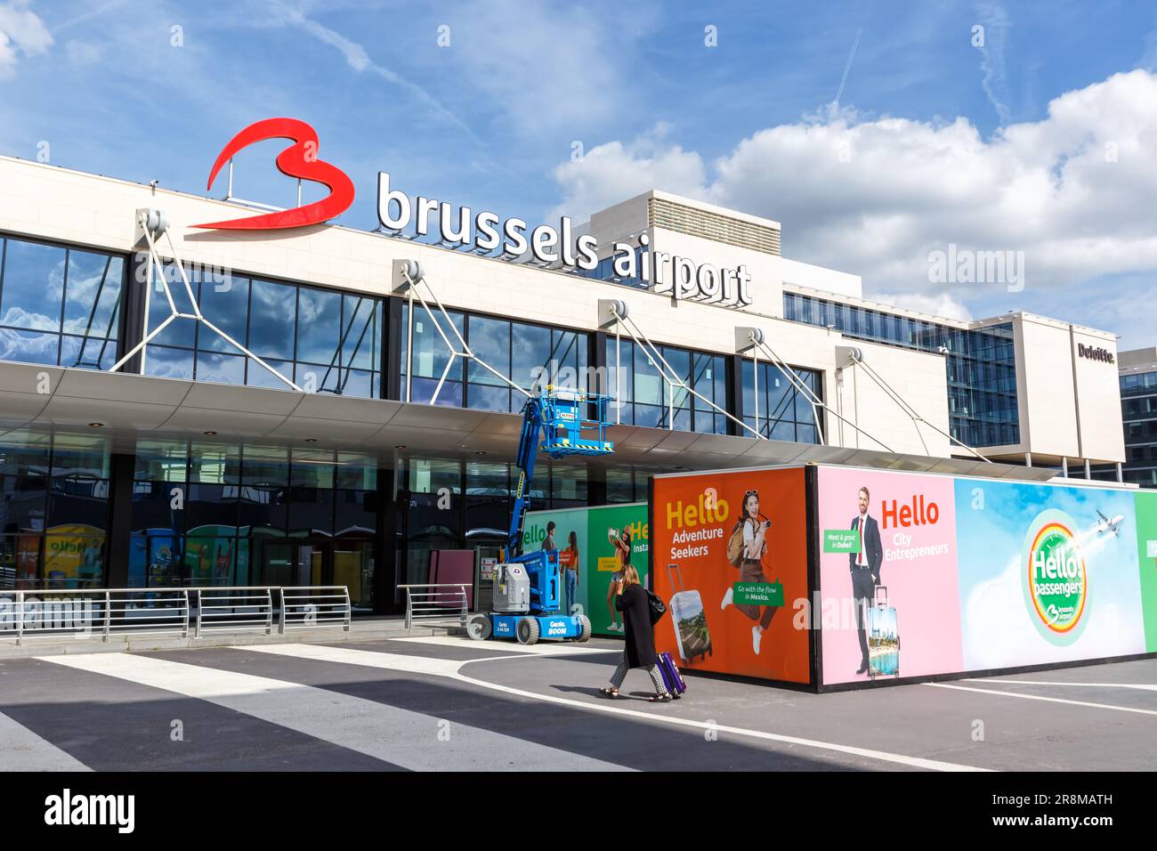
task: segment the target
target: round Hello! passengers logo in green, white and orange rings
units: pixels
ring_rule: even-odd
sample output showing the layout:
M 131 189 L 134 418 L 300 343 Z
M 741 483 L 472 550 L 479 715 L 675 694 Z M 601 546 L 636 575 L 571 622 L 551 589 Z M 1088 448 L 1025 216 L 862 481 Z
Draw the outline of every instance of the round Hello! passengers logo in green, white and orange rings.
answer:
M 1049 508 L 1029 527 L 1022 550 L 1022 587 L 1037 631 L 1055 645 L 1073 644 L 1084 629 L 1089 570 L 1076 523 Z

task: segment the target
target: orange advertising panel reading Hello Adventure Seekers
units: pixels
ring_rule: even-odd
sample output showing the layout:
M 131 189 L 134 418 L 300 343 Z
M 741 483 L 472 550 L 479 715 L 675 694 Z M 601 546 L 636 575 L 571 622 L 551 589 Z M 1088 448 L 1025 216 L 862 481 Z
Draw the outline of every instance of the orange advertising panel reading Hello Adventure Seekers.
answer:
M 661 476 L 651 499 L 655 646 L 679 667 L 810 683 L 802 468 Z

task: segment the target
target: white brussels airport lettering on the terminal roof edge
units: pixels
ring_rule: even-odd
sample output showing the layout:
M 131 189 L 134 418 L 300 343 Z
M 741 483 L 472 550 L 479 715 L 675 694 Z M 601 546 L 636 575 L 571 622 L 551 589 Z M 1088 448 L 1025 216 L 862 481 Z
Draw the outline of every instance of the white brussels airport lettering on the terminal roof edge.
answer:
M 507 257 L 525 257 L 568 269 L 592 271 L 598 265 L 598 241 L 591 234 L 574 236 L 569 217 L 559 226 L 539 225 L 533 229 L 523 219 L 503 220 L 498 213 L 470 207 L 455 207 L 449 201 L 410 196 L 390 188 L 390 175 L 377 176 L 377 219 L 386 230 L 405 230 L 413 226 L 417 236 L 430 233 L 430 218 L 436 217 L 442 244 L 471 245 L 480 251 L 501 249 Z M 636 278 L 657 293 L 675 299 L 715 302 L 730 307 L 751 303 L 751 276 L 746 265 L 721 269 L 710 263 L 695 263 L 666 251 L 653 251 L 647 234 L 640 234 L 639 249 L 626 242 L 612 245 L 612 269 L 620 278 Z

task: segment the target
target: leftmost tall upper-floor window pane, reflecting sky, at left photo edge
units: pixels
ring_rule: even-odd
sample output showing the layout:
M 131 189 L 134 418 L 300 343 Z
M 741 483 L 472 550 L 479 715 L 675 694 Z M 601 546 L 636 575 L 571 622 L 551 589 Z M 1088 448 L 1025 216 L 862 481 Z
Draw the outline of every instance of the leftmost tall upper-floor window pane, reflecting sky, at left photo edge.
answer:
M 0 325 L 59 331 L 64 279 L 62 248 L 7 240 Z

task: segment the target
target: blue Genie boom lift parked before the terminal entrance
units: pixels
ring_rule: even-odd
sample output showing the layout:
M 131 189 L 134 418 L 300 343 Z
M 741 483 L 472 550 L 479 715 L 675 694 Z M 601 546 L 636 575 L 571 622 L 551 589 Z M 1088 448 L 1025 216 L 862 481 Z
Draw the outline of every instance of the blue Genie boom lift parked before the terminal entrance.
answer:
M 535 478 L 539 449 L 552 458 L 572 455 L 609 455 L 614 446 L 606 440 L 607 396 L 550 386 L 531 396 L 522 411 L 518 440 L 518 490 L 510 515 L 502 564 L 494 568 L 492 611 L 478 614 L 466 623 L 466 634 L 479 641 L 515 638 L 535 644 L 539 638 L 590 638 L 585 615 L 561 610 L 559 551 L 523 552 L 523 522 L 530 505 L 528 491 Z M 591 415 L 591 416 L 588 416 Z M 585 435 L 584 435 L 585 433 Z M 541 434 L 541 442 L 539 442 Z

